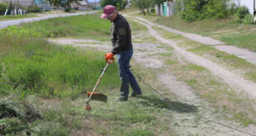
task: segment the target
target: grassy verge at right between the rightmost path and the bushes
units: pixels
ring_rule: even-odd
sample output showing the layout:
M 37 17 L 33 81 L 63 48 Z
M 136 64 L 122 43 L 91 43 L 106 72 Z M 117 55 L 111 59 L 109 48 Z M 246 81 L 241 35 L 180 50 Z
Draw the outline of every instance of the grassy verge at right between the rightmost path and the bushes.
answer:
M 170 17 L 147 15 L 142 17 L 160 25 L 189 33 L 211 36 L 225 42 L 227 45 L 235 45 L 256 52 L 256 39 L 254 38 L 256 36 L 256 26 L 239 24 L 238 17 L 235 15 L 220 20 L 208 19 L 192 22 L 184 21 L 177 15 Z

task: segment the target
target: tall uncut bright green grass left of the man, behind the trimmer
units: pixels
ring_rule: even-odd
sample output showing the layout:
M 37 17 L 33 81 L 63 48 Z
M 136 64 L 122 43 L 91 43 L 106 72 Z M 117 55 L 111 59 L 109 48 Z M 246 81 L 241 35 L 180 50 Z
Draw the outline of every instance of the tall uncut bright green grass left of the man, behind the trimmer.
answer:
M 16 82 L 23 91 L 43 96 L 78 96 L 92 91 L 106 65 L 104 53 L 52 45 L 43 39 L 1 36 L 0 45 L 0 80 Z M 110 67 L 99 89 L 118 87 L 117 65 Z

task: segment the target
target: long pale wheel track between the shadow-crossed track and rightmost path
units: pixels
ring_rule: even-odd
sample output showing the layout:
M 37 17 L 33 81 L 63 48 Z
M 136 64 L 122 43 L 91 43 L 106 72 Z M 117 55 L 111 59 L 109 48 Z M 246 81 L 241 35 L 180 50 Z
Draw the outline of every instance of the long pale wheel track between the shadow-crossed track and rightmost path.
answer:
M 245 80 L 242 77 L 231 73 L 225 68 L 221 68 L 216 63 L 212 63 L 210 60 L 204 59 L 196 54 L 192 54 L 187 52 L 185 49 L 178 47 L 177 43 L 173 40 L 166 40 L 161 37 L 152 27 L 150 24 L 146 24 L 145 22 L 134 20 L 144 26 L 146 26 L 149 30 L 149 34 L 154 36 L 157 40 L 163 42 L 164 44 L 168 44 L 173 47 L 173 49 L 177 50 L 179 54 L 182 54 L 189 62 L 195 63 L 199 66 L 205 67 L 210 70 L 213 75 L 216 75 L 222 78 L 225 82 L 227 82 L 230 87 L 235 88 L 240 92 L 245 91 L 246 93 L 251 96 L 251 98 L 256 98 L 256 84 L 254 82 L 250 82 Z

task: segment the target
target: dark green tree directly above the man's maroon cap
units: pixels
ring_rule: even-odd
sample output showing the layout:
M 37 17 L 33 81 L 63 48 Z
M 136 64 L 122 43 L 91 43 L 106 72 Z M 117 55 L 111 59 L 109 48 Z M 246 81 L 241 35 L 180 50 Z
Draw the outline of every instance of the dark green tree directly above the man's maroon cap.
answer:
M 118 11 L 123 10 L 127 5 L 127 0 L 101 0 L 101 6 L 105 7 L 112 5 L 117 8 Z

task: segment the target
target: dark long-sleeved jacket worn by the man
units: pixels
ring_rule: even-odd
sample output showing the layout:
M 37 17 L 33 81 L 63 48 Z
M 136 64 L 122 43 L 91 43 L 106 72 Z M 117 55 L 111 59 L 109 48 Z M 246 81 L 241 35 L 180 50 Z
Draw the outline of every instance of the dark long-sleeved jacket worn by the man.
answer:
M 130 26 L 124 16 L 117 14 L 111 26 L 112 54 L 121 53 L 123 50 L 132 49 Z

